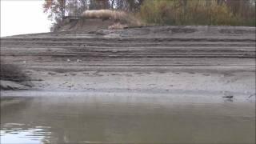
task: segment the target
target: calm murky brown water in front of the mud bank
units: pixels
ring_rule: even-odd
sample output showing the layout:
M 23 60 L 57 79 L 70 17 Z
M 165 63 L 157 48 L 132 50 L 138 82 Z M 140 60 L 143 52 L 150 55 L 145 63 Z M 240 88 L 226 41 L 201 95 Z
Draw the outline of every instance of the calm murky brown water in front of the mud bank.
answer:
M 139 95 L 2 98 L 1 143 L 255 142 L 255 102 Z

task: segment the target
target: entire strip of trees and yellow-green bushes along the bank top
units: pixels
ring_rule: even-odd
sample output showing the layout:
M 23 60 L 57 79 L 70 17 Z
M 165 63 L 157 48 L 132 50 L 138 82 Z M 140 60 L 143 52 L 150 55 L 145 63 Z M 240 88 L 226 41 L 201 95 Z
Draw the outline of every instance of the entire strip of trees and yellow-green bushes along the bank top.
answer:
M 147 25 L 256 26 L 255 0 L 46 0 L 57 23 L 86 10 L 119 10 Z

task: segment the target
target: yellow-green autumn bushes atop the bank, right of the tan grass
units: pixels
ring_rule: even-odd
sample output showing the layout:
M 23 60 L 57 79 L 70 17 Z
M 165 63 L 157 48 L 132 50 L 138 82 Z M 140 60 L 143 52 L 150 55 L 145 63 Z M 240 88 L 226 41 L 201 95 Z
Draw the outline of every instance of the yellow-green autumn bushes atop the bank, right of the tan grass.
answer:
M 147 0 L 138 15 L 146 23 L 160 25 L 255 26 L 255 10 L 250 14 L 243 18 L 216 0 Z

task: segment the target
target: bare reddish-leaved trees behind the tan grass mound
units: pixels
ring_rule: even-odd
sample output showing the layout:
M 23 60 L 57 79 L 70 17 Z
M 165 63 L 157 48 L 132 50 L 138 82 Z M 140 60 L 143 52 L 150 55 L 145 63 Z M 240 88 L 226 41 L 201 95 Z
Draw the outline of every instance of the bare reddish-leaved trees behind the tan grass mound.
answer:
M 85 10 L 113 9 L 136 11 L 144 0 L 45 0 L 44 12 L 55 22 L 66 15 L 78 16 Z

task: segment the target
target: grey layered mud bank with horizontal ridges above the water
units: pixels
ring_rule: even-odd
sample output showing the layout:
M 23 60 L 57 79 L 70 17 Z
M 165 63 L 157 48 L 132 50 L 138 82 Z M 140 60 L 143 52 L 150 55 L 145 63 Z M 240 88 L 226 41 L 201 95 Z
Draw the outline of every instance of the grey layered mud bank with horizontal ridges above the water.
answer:
M 153 26 L 1 38 L 34 90 L 255 94 L 255 28 Z M 251 96 L 253 95 L 253 96 Z

